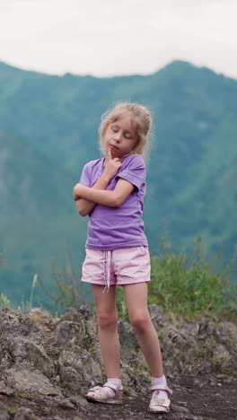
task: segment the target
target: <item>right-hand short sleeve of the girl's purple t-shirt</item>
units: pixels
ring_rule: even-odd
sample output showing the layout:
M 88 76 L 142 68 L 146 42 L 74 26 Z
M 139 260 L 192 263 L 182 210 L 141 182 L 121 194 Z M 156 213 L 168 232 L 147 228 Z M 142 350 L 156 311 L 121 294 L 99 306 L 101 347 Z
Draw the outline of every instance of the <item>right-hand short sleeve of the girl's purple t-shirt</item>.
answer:
M 126 179 L 138 190 L 145 184 L 145 162 L 140 154 L 131 154 L 127 157 L 124 166 L 116 178 Z

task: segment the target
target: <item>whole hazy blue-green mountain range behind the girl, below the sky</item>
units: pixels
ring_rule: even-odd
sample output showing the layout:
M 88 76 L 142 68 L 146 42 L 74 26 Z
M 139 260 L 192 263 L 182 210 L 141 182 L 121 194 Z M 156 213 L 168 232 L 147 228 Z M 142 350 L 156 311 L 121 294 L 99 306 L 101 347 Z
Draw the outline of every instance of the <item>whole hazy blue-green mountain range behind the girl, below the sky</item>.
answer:
M 39 74 L 0 63 L 0 127 L 8 133 L 2 136 L 0 159 L 4 159 L 6 145 L 12 144 L 12 150 L 18 147 L 19 151 L 11 164 L 6 161 L 8 179 L 4 185 L 9 195 L 1 197 L 11 211 L 7 207 L 4 217 L 1 212 L 0 246 L 6 255 L 7 249 L 12 249 L 13 256 L 16 249 L 27 249 L 23 255 L 28 256 L 31 273 L 36 261 L 40 267 L 46 267 L 46 260 L 49 264 L 52 251 L 61 259 L 59 235 L 67 235 L 76 251 L 83 248 L 85 221 L 75 214 L 72 187 L 83 164 L 100 156 L 101 114 L 118 101 L 138 101 L 154 115 L 144 214 L 151 248 L 156 250 L 165 224 L 174 247 L 180 248 L 202 234 L 208 253 L 221 251 L 231 258 L 237 249 L 236 97 L 236 80 L 181 61 L 155 74 L 111 78 Z M 30 164 L 29 153 L 38 164 Z M 11 218 L 17 220 L 20 208 L 13 206 L 9 186 L 16 167 L 24 173 L 24 188 L 29 177 L 33 179 L 31 186 L 36 187 L 28 191 L 31 217 L 27 202 L 19 204 L 22 218 L 26 223 L 32 221 L 31 227 L 23 230 L 24 223 L 20 223 L 21 232 L 18 228 L 10 232 L 4 226 L 11 226 Z M 39 188 L 38 195 L 35 190 Z M 55 206 L 57 200 L 60 206 Z M 48 214 L 47 229 L 40 224 L 37 232 L 32 229 L 34 210 L 40 223 Z M 9 265 L 13 256 L 7 257 Z M 21 259 L 18 273 L 22 273 L 22 265 Z M 29 282 L 29 273 L 24 271 L 19 291 Z M 7 279 L 13 279 L 10 271 Z M 4 287 L 9 287 L 5 280 Z

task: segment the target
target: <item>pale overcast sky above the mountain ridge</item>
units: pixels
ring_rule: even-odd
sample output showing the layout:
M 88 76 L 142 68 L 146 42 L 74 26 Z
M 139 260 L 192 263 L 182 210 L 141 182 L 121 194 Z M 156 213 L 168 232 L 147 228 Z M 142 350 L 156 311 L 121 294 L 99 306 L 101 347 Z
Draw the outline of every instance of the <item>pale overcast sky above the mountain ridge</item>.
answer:
M 0 0 L 0 61 L 150 74 L 173 59 L 237 78 L 237 0 Z

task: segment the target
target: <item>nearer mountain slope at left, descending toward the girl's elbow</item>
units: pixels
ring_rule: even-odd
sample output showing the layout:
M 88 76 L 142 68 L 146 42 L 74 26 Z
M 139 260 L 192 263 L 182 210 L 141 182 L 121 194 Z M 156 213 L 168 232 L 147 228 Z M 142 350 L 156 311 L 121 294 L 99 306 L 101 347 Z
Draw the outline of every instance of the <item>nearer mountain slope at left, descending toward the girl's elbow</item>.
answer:
M 0 133 L 1 291 L 15 302 L 29 298 L 41 272 L 50 282 L 51 262 L 68 264 L 67 247 L 83 258 L 85 220 L 75 212 L 75 179 L 22 138 Z

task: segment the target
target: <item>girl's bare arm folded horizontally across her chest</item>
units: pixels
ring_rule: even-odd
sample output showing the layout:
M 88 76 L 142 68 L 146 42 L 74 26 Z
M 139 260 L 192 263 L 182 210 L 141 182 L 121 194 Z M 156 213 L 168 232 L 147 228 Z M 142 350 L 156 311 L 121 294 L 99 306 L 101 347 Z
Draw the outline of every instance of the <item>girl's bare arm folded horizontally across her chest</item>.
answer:
M 75 185 L 75 194 L 103 206 L 119 207 L 134 190 L 134 185 L 126 179 L 118 179 L 113 191 L 84 187 L 82 184 Z

